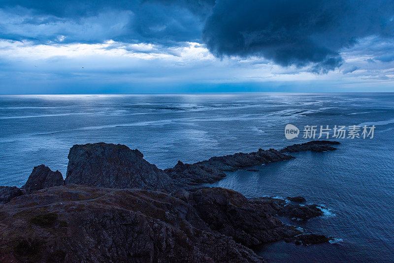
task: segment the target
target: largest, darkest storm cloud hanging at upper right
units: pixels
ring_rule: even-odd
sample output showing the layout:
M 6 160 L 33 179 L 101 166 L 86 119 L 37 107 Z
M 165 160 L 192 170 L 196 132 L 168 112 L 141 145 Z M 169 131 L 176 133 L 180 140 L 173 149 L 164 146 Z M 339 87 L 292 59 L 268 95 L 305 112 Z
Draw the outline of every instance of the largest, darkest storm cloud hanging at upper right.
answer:
M 219 57 L 263 56 L 327 72 L 358 39 L 392 38 L 393 10 L 393 0 L 217 0 L 203 40 Z

